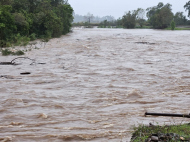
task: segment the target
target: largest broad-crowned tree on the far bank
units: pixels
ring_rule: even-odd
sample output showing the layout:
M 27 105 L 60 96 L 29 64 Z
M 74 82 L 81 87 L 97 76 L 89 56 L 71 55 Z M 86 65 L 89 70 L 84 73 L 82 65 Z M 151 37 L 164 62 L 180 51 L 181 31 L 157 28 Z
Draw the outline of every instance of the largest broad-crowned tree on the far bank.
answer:
M 160 2 L 157 6 L 147 9 L 148 21 L 153 28 L 164 29 L 170 25 L 173 19 L 171 7 L 171 4 L 164 5 Z

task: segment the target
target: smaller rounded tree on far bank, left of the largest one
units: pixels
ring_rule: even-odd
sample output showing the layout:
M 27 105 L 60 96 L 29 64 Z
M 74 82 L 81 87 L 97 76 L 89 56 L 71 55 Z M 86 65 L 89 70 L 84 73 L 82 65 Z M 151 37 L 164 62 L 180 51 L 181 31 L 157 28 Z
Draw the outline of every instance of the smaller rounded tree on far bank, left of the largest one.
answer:
M 122 17 L 123 27 L 127 29 L 133 29 L 136 26 L 136 11 L 129 11 Z

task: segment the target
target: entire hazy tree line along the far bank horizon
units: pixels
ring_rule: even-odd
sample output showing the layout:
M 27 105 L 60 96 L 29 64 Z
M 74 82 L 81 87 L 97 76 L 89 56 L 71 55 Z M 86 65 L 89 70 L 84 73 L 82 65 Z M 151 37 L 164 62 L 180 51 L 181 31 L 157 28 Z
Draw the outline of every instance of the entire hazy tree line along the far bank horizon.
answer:
M 186 11 L 188 11 L 188 17 L 190 17 L 190 1 L 184 5 Z M 87 14 L 84 17 L 88 17 Z M 90 17 L 90 16 L 89 16 Z M 93 19 L 94 17 L 91 16 Z M 91 20 L 92 21 L 92 20 Z M 190 25 L 190 20 L 184 15 L 183 12 L 172 12 L 172 5 L 159 2 L 157 6 L 149 7 L 146 10 L 138 8 L 137 10 L 126 12 L 122 18 L 117 20 L 104 20 L 97 25 L 99 27 L 122 27 L 122 28 L 142 28 L 143 26 L 149 26 L 155 29 L 164 29 L 170 25 Z M 82 25 L 90 24 L 88 21 L 82 23 Z M 74 25 L 81 25 L 81 23 L 74 23 Z

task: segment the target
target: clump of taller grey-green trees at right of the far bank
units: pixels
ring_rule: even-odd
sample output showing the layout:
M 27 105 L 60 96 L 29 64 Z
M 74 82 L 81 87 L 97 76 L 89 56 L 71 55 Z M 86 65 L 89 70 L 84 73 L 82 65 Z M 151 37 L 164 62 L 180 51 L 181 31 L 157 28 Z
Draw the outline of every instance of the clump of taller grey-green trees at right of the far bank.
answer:
M 190 11 L 190 1 L 186 3 L 184 8 L 188 12 Z M 129 11 L 122 17 L 122 26 L 124 28 L 135 28 L 137 25 L 141 28 L 144 25 L 148 25 L 155 29 L 165 29 L 172 25 L 171 29 L 174 29 L 174 25 L 189 25 L 189 21 L 183 15 L 183 12 L 173 14 L 171 4 L 167 3 L 164 5 L 160 2 L 157 6 L 149 7 L 146 10 L 139 8 Z

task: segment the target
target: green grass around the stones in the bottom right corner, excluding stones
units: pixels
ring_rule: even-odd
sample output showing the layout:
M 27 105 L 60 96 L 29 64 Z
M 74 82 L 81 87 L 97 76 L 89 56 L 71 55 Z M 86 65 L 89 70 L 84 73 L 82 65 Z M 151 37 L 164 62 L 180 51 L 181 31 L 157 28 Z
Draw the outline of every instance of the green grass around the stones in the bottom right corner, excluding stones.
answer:
M 145 142 L 152 134 L 158 134 L 158 133 L 163 133 L 163 134 L 176 133 L 180 137 L 183 137 L 186 140 L 186 142 L 190 141 L 190 124 L 169 125 L 169 126 L 154 125 L 151 127 L 140 125 L 139 127 L 135 127 L 134 130 L 135 132 L 133 133 L 131 142 Z

